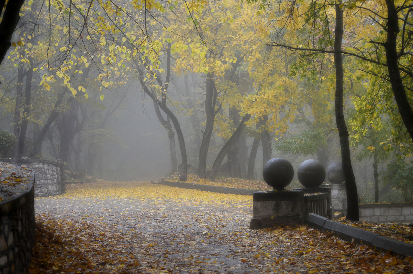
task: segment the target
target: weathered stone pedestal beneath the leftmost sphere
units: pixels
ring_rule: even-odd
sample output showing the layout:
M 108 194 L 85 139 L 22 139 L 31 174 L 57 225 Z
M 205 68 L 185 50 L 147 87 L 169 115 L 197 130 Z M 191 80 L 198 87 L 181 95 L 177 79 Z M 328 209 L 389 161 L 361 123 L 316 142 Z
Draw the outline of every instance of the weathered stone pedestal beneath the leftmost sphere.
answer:
M 304 222 L 304 192 L 301 190 L 259 191 L 252 195 L 252 201 L 251 229 Z

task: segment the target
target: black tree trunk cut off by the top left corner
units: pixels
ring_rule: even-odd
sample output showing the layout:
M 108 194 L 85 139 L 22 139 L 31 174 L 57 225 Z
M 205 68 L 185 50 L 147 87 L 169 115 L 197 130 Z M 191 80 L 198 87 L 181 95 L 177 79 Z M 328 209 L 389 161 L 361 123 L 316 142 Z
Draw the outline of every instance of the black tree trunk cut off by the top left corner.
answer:
M 3 62 L 7 50 L 12 45 L 11 40 L 19 22 L 19 14 L 24 0 L 12 0 L 7 2 L 6 9 L 0 23 L 0 64 Z M 3 7 L 1 7 L 3 8 Z

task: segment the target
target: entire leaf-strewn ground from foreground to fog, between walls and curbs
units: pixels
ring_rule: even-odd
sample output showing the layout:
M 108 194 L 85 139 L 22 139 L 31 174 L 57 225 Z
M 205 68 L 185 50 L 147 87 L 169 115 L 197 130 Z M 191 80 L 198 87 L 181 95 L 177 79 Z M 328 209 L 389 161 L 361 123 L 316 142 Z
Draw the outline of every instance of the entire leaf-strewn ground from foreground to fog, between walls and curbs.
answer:
M 29 273 L 413 273 L 305 226 L 249 230 L 249 196 L 99 181 L 35 203 Z

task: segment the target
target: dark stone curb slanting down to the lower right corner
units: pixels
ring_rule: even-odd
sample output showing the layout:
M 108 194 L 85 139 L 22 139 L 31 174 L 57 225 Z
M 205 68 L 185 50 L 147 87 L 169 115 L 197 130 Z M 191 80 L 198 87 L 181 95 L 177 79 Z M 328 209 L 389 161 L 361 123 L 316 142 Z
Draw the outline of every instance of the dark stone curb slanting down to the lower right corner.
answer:
M 378 251 L 391 251 L 396 255 L 413 257 L 413 245 L 393 240 L 380 234 L 363 230 L 351 225 L 334 222 L 317 214 L 309 213 L 304 217 L 304 224 L 321 231 L 332 232 L 341 239 L 357 244 L 368 244 Z

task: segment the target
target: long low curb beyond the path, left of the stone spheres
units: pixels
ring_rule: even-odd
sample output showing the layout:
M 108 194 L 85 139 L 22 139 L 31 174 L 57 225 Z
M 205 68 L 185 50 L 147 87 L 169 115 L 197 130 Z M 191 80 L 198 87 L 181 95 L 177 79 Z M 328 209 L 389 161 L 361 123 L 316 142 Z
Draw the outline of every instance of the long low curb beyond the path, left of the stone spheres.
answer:
M 168 185 L 170 187 L 180 187 L 180 188 L 195 189 L 195 190 L 225 193 L 225 194 L 236 194 L 236 195 L 252 196 L 254 192 L 261 191 L 261 190 L 252 190 L 252 189 L 236 188 L 236 187 L 218 187 L 216 185 L 200 185 L 200 184 L 191 184 L 191 183 L 183 183 L 183 182 L 170 182 L 166 180 L 162 180 L 161 183 L 163 185 Z

